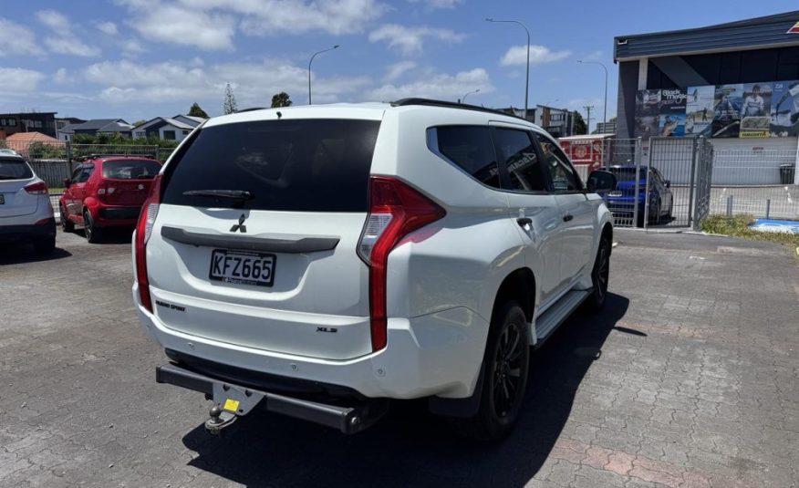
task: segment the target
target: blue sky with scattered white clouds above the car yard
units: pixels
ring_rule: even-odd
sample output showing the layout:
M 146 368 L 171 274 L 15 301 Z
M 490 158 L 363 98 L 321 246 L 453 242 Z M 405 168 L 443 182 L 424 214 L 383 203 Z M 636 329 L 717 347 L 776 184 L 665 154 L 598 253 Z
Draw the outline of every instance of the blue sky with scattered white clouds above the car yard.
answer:
M 616 114 L 613 37 L 710 26 L 796 10 L 795 0 L 70 0 L 6 1 L 0 9 L 0 112 L 140 119 L 223 111 L 227 83 L 240 109 L 287 92 L 313 101 L 462 99 L 524 107 L 593 106 Z M 799 18 L 797 18 L 799 21 Z

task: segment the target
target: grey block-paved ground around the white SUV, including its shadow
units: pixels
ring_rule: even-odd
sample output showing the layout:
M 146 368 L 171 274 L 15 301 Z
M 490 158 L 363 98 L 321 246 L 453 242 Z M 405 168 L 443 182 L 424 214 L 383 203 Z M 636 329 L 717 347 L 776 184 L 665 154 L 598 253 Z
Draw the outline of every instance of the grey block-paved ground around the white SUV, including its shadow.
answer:
M 254 417 L 205 434 L 202 395 L 157 385 L 128 235 L 0 248 L 0 486 L 796 486 L 799 266 L 770 244 L 617 231 L 611 292 L 534 355 L 498 446 L 424 405 L 343 437 Z

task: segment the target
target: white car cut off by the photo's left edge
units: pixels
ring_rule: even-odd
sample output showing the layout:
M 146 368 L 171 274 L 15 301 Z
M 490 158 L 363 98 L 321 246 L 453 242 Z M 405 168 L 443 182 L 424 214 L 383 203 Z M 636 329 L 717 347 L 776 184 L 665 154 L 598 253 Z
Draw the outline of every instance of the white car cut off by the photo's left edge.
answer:
M 0 241 L 27 242 L 36 252 L 56 248 L 56 219 L 47 183 L 25 159 L 0 149 Z

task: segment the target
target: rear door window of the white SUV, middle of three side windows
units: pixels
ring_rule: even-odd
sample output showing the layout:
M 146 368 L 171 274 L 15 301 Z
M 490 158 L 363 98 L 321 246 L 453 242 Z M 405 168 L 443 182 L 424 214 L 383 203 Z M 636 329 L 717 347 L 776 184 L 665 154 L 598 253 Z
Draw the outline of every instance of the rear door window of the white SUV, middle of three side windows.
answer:
M 545 192 L 544 173 L 530 133 L 514 129 L 497 129 L 494 133 L 510 176 L 510 190 Z

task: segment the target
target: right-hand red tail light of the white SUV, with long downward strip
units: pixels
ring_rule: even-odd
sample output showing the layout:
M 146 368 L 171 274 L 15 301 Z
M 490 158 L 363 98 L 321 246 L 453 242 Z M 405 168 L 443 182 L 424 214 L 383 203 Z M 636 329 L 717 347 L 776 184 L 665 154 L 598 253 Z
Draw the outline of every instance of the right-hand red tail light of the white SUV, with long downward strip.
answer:
M 385 176 L 369 179 L 369 214 L 358 243 L 358 256 L 369 266 L 372 350 L 385 348 L 388 341 L 389 253 L 408 234 L 446 214 L 435 202 L 397 179 Z

